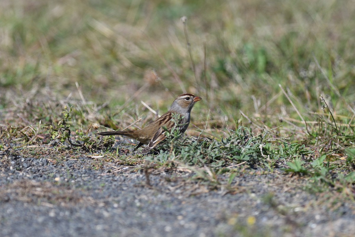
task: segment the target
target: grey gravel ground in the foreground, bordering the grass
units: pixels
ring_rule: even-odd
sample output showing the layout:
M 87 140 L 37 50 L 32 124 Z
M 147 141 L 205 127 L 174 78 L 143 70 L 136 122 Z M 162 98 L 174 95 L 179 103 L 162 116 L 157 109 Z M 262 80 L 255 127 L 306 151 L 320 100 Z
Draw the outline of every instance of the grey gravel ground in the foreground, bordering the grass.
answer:
M 187 170 L 0 152 L 0 236 L 353 236 L 353 201 L 305 179 L 240 172 L 213 185 Z M 113 168 L 115 167 L 115 168 Z M 116 172 L 117 171 L 117 172 Z M 309 181 L 308 181 L 309 182 Z M 334 204 L 333 204 L 334 203 Z M 340 203 L 340 204 L 339 204 Z

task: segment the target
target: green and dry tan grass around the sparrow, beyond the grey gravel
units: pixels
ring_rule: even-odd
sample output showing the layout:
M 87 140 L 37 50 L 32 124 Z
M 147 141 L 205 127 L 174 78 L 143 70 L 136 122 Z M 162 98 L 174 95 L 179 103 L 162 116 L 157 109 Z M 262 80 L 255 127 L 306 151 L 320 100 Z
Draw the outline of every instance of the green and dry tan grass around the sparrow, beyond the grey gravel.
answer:
M 0 150 L 183 166 L 212 186 L 281 171 L 353 199 L 353 15 L 351 1 L 3 1 Z M 96 136 L 147 125 L 141 101 L 162 114 L 185 91 L 203 98 L 194 138 L 143 156 Z

